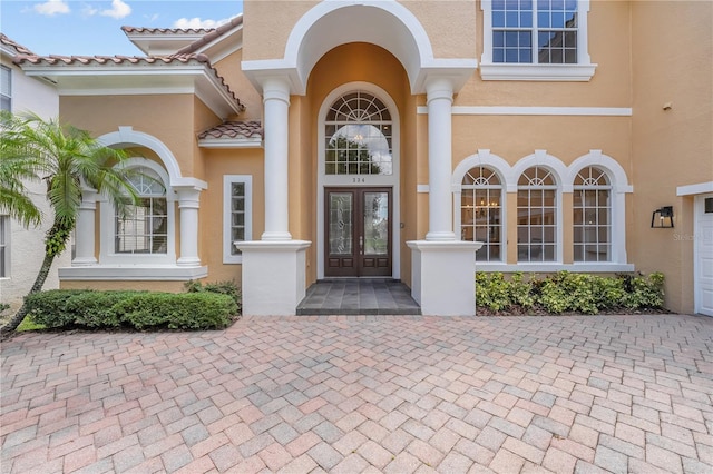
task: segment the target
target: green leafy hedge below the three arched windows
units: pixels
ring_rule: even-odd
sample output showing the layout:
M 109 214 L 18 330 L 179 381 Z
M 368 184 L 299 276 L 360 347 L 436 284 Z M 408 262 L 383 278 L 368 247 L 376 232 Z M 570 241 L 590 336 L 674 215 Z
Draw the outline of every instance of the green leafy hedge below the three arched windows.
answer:
M 490 312 L 567 312 L 597 314 L 602 310 L 662 309 L 664 276 L 661 273 L 602 277 L 557 274 L 525 278 L 521 273 L 506 279 L 501 273 L 476 274 L 476 304 Z

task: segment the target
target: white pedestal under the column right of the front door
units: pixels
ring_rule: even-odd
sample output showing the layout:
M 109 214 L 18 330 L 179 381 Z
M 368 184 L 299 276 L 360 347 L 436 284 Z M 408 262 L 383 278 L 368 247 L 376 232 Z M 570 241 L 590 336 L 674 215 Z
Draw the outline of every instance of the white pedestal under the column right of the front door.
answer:
M 407 241 L 411 248 L 411 296 L 421 314 L 476 314 L 476 251 L 479 241 Z

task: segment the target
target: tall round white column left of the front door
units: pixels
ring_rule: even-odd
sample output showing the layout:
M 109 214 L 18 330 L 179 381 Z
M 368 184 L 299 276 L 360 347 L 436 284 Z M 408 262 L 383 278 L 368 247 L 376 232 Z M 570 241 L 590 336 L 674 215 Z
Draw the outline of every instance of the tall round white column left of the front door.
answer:
M 265 107 L 265 231 L 263 240 L 291 240 L 289 227 L 287 139 L 290 86 L 284 79 L 263 82 Z

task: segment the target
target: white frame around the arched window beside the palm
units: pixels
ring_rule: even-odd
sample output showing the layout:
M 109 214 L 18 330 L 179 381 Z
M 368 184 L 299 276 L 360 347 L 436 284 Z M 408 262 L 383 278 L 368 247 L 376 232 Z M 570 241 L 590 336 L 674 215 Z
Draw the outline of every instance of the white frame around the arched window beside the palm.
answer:
M 116 211 L 106 199 L 100 204 L 99 265 L 176 265 L 176 194 L 168 185 L 166 170 L 156 161 L 146 158 L 129 158 L 121 162 L 123 168 L 148 168 L 156 172 L 166 188 L 166 209 L 168 216 L 165 254 L 120 254 L 115 251 Z

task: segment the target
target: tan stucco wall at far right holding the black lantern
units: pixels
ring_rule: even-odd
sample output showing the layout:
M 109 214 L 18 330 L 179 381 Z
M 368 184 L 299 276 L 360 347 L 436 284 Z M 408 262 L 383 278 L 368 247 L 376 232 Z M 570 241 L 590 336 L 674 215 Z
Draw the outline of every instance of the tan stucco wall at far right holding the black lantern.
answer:
M 676 187 L 713 181 L 713 3 L 632 4 L 634 208 L 631 258 L 663 271 L 666 304 L 693 312 L 693 198 Z M 665 34 L 662 34 L 665 31 Z M 664 105 L 671 102 L 671 109 Z M 675 228 L 649 228 L 651 214 L 674 206 Z M 678 237 L 678 238 L 676 238 Z

